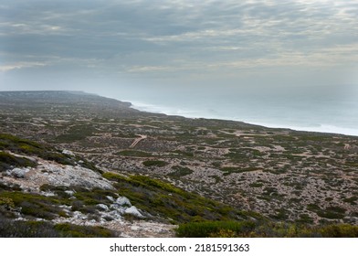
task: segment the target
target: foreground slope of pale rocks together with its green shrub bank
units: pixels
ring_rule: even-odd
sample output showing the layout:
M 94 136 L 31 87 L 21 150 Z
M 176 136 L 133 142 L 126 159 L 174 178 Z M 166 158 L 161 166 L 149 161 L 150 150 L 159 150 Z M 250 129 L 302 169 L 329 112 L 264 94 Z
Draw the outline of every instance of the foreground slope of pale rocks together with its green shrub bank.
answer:
M 0 163 L 0 222 L 7 226 L 33 225 L 36 220 L 53 225 L 47 229 L 54 236 L 87 236 L 85 227 L 100 227 L 90 235 L 102 236 L 108 230 L 109 236 L 173 237 L 174 224 L 186 221 L 252 218 L 169 183 L 103 173 L 67 149 L 4 133 L 0 133 Z M 5 224 L 2 235 L 32 236 L 11 225 L 5 230 Z M 82 231 L 51 230 L 63 229 L 61 225 Z M 12 229 L 15 233 L 9 233 Z

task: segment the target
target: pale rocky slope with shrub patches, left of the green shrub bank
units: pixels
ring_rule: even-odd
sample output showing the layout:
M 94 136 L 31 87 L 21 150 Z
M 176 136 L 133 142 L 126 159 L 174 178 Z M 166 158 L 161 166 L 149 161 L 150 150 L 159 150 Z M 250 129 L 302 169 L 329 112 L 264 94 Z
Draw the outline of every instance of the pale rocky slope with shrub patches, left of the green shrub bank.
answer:
M 16 148 L 18 143 L 20 148 Z M 81 166 L 84 161 L 70 151 L 57 152 L 61 156 L 58 162 L 73 164 L 64 165 L 27 155 L 32 152 L 29 144 L 34 144 L 30 141 L 1 134 L 0 144 L 3 146 L 1 162 L 9 164 L 0 173 L 0 216 L 3 218 L 101 226 L 116 231 L 121 237 L 174 235 L 174 225 L 149 221 L 148 213 L 132 206 L 127 197 L 121 197 L 112 182 L 98 170 Z M 29 148 L 25 147 L 21 154 L 8 150 L 12 147 L 17 151 L 22 145 Z M 28 162 L 18 161 L 14 166 L 14 159 Z

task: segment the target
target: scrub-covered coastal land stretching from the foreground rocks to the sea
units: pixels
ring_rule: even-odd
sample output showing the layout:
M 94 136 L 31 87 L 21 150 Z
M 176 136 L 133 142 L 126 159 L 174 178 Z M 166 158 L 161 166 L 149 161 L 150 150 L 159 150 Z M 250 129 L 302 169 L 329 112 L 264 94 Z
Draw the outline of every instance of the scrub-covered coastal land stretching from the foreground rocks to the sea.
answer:
M 82 217 L 74 214 L 79 211 L 93 223 L 111 223 L 116 218 L 105 220 L 104 213 L 125 197 L 141 215 L 119 219 L 142 231 L 121 236 L 150 236 L 131 221 L 164 225 L 152 236 L 174 235 L 171 224 L 205 220 L 357 225 L 357 137 L 187 119 L 130 106 L 82 92 L 0 92 L 0 197 L 5 215 L 16 209 L 6 219 L 25 214 L 80 225 L 76 218 Z M 56 170 L 70 178 L 61 180 Z M 91 187 L 92 178 L 102 187 Z M 35 204 L 24 191 L 45 205 L 50 198 L 56 205 L 50 217 L 19 210 Z

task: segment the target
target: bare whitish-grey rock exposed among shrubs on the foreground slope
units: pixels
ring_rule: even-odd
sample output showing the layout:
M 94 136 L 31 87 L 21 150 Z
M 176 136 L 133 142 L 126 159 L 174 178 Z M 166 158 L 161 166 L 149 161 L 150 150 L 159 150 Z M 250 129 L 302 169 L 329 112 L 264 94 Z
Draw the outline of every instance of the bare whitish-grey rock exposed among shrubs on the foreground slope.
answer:
M 63 152 L 71 155 L 73 153 Z M 25 155 L 20 155 L 25 156 Z M 111 181 L 100 176 L 99 173 L 79 165 L 61 165 L 39 157 L 32 159 L 36 167 L 12 168 L 2 176 L 2 182 L 7 185 L 17 185 L 23 192 L 31 192 L 45 197 L 57 197 L 56 191 L 49 188 L 41 190 L 41 186 L 50 187 L 80 187 L 87 191 L 96 189 L 108 190 L 112 196 L 106 196 L 103 203 L 95 205 L 89 213 L 81 212 L 70 205 L 60 205 L 66 217 L 58 216 L 52 219 L 54 223 L 71 223 L 85 226 L 102 226 L 114 229 L 121 237 L 173 237 L 174 225 L 166 225 L 153 221 L 146 221 L 146 214 L 132 205 L 130 199 L 121 197 L 111 185 Z M 78 200 L 74 188 L 62 190 L 72 202 Z M 88 192 L 90 193 L 90 192 Z M 114 196 L 116 195 L 116 196 Z M 26 216 L 16 212 L 17 219 L 26 220 Z M 132 216 L 132 218 L 130 217 Z M 130 217 L 130 220 L 126 220 Z

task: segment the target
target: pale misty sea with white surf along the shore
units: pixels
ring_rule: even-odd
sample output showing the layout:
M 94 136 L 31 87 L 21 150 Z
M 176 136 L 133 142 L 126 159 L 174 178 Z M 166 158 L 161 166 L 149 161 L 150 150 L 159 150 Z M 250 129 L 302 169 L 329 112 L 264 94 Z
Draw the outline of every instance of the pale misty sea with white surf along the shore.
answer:
M 213 93 L 214 92 L 214 93 Z M 298 131 L 358 135 L 358 101 L 337 91 L 174 91 L 116 99 L 132 108 L 191 118 L 241 121 Z

